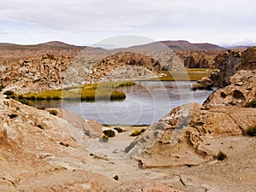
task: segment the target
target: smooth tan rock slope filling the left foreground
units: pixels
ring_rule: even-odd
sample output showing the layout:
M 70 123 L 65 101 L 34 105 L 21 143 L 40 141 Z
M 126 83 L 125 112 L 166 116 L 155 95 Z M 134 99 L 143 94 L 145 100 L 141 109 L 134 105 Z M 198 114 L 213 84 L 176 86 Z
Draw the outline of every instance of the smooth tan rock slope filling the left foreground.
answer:
M 47 162 L 90 161 L 80 145 L 86 142 L 83 131 L 67 120 L 3 98 L 0 118 L 1 191 L 101 191 L 114 184 L 100 174 Z M 74 134 L 83 140 L 75 140 Z

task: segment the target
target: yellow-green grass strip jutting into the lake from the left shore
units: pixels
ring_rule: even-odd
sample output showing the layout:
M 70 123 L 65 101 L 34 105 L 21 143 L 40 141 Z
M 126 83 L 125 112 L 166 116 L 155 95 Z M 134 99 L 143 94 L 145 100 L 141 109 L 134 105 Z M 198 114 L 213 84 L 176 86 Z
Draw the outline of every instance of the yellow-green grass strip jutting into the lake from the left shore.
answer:
M 120 86 L 131 86 L 134 82 L 104 82 L 100 84 L 84 84 L 64 88 L 63 90 L 44 90 L 26 94 L 15 94 L 15 98 L 27 100 L 124 100 L 125 93 L 116 90 Z

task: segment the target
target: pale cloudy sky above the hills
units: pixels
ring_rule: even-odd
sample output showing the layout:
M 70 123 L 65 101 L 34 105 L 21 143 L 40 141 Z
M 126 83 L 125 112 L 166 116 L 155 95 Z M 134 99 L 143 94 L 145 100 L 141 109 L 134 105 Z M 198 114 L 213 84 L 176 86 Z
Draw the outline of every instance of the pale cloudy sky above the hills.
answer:
M 0 0 L 0 42 L 91 45 L 132 35 L 256 44 L 254 0 Z

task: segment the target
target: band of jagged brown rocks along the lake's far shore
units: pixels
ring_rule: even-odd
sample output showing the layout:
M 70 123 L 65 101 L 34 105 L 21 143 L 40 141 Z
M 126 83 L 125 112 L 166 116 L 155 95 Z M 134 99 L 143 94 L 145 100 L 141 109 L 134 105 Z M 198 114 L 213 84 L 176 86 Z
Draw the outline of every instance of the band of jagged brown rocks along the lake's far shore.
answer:
M 222 49 L 175 50 L 162 43 L 153 47 L 99 49 L 52 42 L 0 47 L 0 84 L 16 92 L 61 89 L 63 86 L 113 79 L 156 78 L 160 69 L 213 67 Z M 128 53 L 130 52 L 130 53 Z

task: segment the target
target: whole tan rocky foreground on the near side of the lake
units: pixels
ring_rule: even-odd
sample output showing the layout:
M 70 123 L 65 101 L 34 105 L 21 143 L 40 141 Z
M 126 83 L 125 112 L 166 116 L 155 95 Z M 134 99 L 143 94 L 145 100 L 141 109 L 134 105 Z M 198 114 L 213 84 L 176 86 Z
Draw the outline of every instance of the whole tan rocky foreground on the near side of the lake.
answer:
M 87 131 L 102 137 L 95 121 L 1 93 L 0 191 L 256 191 L 256 137 L 248 132 L 256 126 L 254 49 L 232 57 L 239 61 L 229 85 L 202 106 L 174 108 L 121 159 L 86 150 Z

